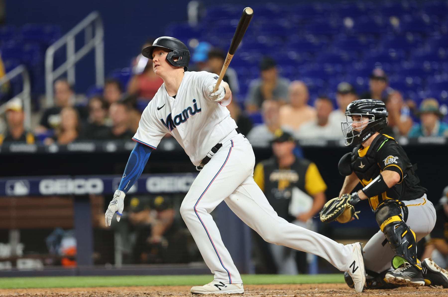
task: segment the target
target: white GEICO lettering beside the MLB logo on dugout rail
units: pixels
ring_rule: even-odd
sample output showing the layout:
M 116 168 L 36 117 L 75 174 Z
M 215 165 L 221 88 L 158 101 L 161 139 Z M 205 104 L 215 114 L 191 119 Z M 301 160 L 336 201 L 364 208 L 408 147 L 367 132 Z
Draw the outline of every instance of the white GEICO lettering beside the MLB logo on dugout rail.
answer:
M 39 182 L 41 195 L 101 194 L 103 188 L 103 181 L 100 178 L 57 178 L 43 179 Z

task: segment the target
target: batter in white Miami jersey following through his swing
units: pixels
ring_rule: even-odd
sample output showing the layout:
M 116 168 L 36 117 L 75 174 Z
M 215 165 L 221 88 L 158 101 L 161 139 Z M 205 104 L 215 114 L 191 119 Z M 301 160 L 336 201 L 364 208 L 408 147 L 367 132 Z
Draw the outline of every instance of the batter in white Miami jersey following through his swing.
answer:
M 348 272 L 356 292 L 362 292 L 366 278 L 361 245 L 343 245 L 288 223 L 277 216 L 254 182 L 252 146 L 239 133 L 225 107 L 232 100 L 228 84 L 223 82 L 213 93 L 216 74 L 187 72 L 190 52 L 176 38 L 159 37 L 142 54 L 152 59 L 154 72 L 164 84 L 143 111 L 133 137 L 137 144 L 106 211 L 106 225 L 111 224 L 114 213 L 120 221 L 126 192 L 142 173 L 151 151 L 170 133 L 200 170 L 180 212 L 205 263 L 215 275 L 209 284 L 191 288 L 191 293 L 244 293 L 241 276 L 210 214 L 223 200 L 267 242 L 326 259 L 339 270 Z

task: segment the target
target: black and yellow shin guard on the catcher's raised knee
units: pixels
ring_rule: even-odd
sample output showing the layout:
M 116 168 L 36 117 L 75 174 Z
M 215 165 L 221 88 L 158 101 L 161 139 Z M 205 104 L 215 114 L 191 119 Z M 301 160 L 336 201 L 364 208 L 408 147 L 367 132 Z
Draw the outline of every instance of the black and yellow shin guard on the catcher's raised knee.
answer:
M 395 203 L 380 205 L 375 218 L 395 253 L 392 267 L 396 269 L 404 262 L 418 264 L 415 233 L 403 221 L 400 206 Z

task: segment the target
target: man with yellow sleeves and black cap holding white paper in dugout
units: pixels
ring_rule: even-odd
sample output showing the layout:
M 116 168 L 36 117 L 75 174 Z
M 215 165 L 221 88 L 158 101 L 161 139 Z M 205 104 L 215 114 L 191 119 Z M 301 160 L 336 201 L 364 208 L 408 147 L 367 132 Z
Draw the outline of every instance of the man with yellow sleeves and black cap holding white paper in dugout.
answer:
M 327 185 L 317 166 L 311 161 L 297 158 L 294 148 L 296 143 L 293 136 L 278 129 L 272 140 L 275 157 L 258 163 L 254 180 L 280 217 L 312 229 L 311 217 L 323 207 Z M 297 252 L 297 267 L 294 250 L 275 244 L 269 244 L 269 247 L 278 273 L 297 274 L 297 268 L 307 273 L 305 252 Z

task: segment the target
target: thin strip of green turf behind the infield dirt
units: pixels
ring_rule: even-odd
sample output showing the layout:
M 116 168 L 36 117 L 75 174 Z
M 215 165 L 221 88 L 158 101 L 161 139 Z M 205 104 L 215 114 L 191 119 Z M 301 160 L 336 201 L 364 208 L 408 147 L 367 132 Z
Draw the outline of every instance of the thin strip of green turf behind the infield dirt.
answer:
M 340 274 L 316 275 L 242 275 L 244 284 L 334 284 L 344 283 Z M 3 277 L 0 289 L 29 288 L 89 288 L 89 287 L 131 287 L 131 286 L 194 286 L 213 280 L 212 275 L 189 276 L 55 276 L 55 277 Z

